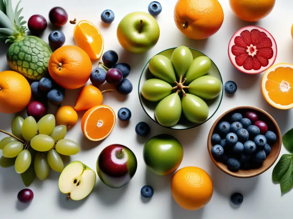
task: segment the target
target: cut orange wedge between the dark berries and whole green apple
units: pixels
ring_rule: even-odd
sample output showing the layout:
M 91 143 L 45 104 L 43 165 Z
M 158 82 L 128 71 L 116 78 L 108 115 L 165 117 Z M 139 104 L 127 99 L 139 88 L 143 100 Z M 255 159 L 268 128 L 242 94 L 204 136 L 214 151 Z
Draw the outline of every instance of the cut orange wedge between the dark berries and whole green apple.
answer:
M 91 59 L 99 59 L 104 50 L 104 40 L 99 29 L 87 20 L 81 20 L 74 27 L 74 41 Z

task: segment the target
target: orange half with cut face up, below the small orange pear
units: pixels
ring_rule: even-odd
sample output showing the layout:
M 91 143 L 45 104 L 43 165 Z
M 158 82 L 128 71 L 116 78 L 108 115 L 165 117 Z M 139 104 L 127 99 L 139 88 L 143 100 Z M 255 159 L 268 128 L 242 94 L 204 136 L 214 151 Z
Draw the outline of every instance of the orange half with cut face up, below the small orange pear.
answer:
M 114 110 L 106 105 L 99 105 L 86 111 L 81 119 L 81 129 L 89 140 L 100 141 L 112 132 L 115 122 Z

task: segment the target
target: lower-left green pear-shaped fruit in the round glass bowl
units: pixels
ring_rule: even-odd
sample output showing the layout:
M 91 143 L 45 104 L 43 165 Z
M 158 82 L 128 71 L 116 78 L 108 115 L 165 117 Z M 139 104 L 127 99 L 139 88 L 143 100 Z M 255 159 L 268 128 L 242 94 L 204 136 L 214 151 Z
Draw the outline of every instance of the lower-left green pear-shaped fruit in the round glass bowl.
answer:
M 172 93 L 161 100 L 155 108 L 155 117 L 165 127 L 175 126 L 181 116 L 182 107 L 178 93 Z

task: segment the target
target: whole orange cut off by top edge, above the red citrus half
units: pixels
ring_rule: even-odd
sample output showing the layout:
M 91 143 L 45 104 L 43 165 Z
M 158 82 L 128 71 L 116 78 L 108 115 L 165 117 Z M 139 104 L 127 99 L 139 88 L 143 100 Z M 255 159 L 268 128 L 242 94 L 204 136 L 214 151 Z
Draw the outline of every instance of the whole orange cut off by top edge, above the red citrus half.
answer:
M 232 11 L 242 20 L 255 22 L 266 17 L 276 0 L 229 0 Z

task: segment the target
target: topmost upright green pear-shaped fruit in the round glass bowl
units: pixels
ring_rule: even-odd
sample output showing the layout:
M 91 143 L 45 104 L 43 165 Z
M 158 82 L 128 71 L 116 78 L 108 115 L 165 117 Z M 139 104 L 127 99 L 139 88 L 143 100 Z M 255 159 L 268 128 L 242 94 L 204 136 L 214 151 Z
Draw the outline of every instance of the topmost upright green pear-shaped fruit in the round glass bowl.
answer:
M 175 73 L 178 78 L 180 77 L 181 74 L 184 77 L 192 61 L 193 61 L 193 55 L 188 47 L 179 46 L 173 51 L 171 56 L 171 62 L 173 64 Z

